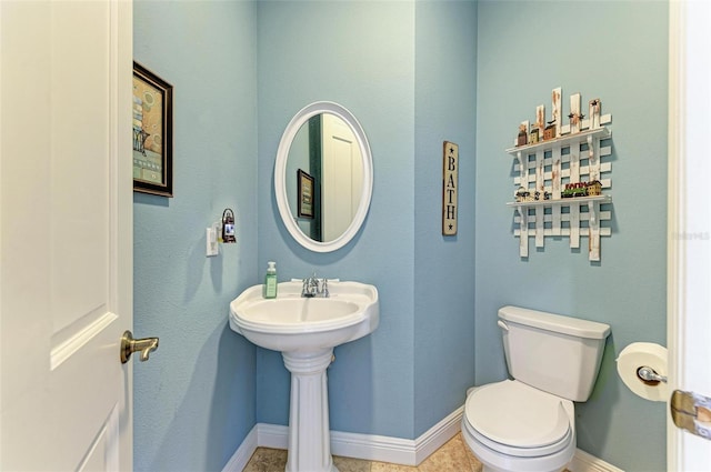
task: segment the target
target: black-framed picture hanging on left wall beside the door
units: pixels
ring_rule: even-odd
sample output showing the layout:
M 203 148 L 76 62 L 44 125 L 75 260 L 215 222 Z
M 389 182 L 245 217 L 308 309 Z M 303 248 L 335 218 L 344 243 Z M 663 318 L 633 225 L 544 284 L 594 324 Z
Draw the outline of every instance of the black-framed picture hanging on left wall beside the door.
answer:
M 173 86 L 136 61 L 133 191 L 173 195 Z

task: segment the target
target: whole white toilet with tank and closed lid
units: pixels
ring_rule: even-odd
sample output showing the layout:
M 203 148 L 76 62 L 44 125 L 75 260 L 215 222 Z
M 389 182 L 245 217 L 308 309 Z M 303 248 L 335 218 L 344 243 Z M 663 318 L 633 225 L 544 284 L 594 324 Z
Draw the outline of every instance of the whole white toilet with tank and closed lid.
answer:
M 573 402 L 594 386 L 610 327 L 518 307 L 499 310 L 514 380 L 470 389 L 462 438 L 484 472 L 558 472 L 575 453 Z

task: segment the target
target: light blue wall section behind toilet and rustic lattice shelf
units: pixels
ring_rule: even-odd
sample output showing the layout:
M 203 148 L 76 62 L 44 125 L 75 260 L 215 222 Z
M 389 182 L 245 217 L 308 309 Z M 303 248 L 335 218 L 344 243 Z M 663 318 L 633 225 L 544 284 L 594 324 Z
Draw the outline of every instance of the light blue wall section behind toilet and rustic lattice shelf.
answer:
M 477 383 L 505 378 L 497 309 L 519 304 L 612 327 L 592 398 L 575 410 L 578 445 L 627 471 L 662 471 L 664 404 L 633 395 L 614 358 L 634 341 L 665 344 L 665 2 L 479 3 L 477 84 Z M 550 93 L 602 99 L 612 113 L 612 237 L 590 263 L 587 239 L 545 239 L 518 255 L 511 147 Z

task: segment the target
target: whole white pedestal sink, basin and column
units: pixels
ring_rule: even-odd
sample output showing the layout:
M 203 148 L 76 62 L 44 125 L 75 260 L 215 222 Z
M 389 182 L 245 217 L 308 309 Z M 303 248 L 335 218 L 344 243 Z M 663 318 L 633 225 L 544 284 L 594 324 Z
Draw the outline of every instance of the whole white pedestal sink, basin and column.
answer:
M 329 298 L 302 298 L 301 289 L 301 282 L 282 282 L 271 300 L 262 298 L 262 285 L 247 289 L 230 303 L 230 328 L 261 348 L 281 351 L 291 372 L 287 472 L 338 472 L 326 369 L 334 347 L 378 328 L 378 290 L 329 282 Z

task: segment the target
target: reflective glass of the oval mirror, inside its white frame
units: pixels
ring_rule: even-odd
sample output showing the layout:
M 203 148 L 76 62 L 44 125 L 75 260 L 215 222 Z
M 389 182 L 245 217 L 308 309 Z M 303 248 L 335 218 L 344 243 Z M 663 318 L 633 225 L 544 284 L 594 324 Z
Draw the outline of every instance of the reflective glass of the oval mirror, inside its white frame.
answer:
M 303 188 L 299 193 L 300 170 L 313 178 L 312 194 Z M 356 218 L 362 184 L 362 157 L 348 123 L 332 113 L 311 117 L 291 142 L 287 161 L 287 200 L 299 229 L 313 241 L 338 239 Z M 311 200 L 310 213 L 299 212 L 300 198 Z

